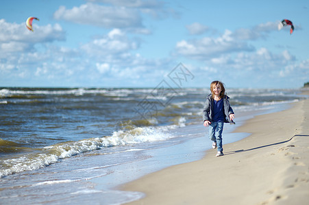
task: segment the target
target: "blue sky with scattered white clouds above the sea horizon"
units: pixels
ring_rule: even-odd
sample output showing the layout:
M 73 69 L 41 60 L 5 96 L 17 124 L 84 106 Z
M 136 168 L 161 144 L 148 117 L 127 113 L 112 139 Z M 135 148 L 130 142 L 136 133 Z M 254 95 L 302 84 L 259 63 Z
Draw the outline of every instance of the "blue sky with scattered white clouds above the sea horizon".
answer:
M 25 21 L 29 16 L 34 31 Z M 282 19 L 293 22 L 280 31 Z M 299 88 L 309 1 L 2 0 L 0 87 Z M 178 72 L 179 77 L 181 74 Z M 190 78 L 189 78 L 190 77 Z

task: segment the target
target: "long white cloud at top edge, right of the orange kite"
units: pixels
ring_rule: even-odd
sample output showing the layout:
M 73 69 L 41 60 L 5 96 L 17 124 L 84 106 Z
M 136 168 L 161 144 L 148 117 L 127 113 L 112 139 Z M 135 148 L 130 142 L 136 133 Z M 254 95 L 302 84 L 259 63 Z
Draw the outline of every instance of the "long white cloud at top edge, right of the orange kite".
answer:
M 164 1 L 140 0 L 88 0 L 79 7 L 60 8 L 54 12 L 53 18 L 83 25 L 105 28 L 126 29 L 132 33 L 149 34 L 151 31 L 143 25 L 143 14 L 153 18 L 178 16 L 171 8 L 166 8 Z M 91 1 L 91 2 L 90 2 Z

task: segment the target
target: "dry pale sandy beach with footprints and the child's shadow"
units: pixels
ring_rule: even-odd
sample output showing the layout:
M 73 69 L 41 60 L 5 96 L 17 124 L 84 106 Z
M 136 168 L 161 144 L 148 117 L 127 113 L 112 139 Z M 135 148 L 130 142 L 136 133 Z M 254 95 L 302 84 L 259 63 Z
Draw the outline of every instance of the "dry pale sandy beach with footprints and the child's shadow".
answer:
M 129 204 L 308 204 L 308 115 L 309 100 L 258 115 L 236 128 L 234 133 L 251 135 L 224 144 L 224 156 L 208 150 L 199 161 L 162 169 L 121 189 L 145 193 Z

